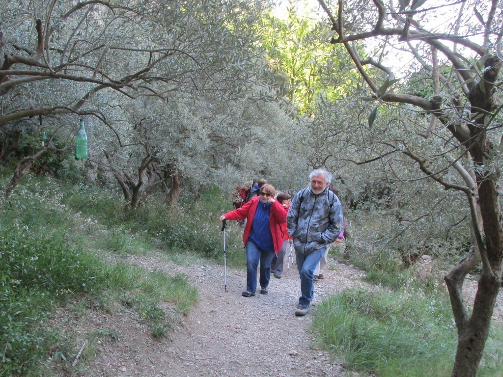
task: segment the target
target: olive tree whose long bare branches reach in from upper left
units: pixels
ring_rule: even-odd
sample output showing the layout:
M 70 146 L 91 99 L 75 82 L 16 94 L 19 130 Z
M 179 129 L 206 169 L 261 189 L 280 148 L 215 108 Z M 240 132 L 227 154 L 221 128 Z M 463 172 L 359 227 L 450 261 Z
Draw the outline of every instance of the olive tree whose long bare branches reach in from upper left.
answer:
M 182 54 L 179 49 L 157 48 L 143 38 L 152 27 L 158 2 L 5 2 L 2 5 L 0 70 L 3 111 L 0 131 L 2 156 L 16 149 L 27 132 L 47 128 L 74 132 L 68 114 L 106 114 L 94 106 L 97 93 L 115 91 L 125 98 L 167 98 L 173 85 L 160 63 Z M 152 82 L 164 86 L 152 87 Z M 75 124 L 75 122 L 72 122 Z M 47 148 L 24 156 L 5 191 L 8 197 L 20 176 Z

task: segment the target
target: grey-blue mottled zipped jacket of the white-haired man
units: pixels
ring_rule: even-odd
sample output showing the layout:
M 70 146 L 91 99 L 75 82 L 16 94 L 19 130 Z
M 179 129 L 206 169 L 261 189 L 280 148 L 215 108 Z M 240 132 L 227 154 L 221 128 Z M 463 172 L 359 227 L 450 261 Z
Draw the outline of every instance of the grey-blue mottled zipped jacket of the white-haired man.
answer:
M 337 195 L 328 187 L 315 195 L 311 186 L 295 194 L 286 218 L 293 246 L 304 255 L 336 241 L 342 220 L 343 208 Z

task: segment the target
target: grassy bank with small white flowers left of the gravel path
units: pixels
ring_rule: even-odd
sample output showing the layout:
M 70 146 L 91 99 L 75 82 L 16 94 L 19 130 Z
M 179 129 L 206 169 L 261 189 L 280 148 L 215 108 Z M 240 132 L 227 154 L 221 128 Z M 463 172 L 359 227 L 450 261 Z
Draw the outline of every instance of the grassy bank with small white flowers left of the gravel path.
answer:
M 98 191 L 81 186 L 75 194 L 79 201 L 69 194 L 75 192 L 73 186 L 59 186 L 48 176 L 27 175 L 18 188 L 0 208 L 0 375 L 68 369 L 81 340 L 52 327 L 55 309 L 64 308 L 71 318 L 85 315 L 89 308 L 113 313 L 127 306 L 160 337 L 198 300 L 185 275 L 105 262 L 103 253 L 89 251 L 101 245 L 117 254 L 154 247 L 145 239 L 147 233 L 129 234 L 116 217 L 107 221 L 111 208 L 126 217 L 117 197 L 95 195 Z M 82 198 L 96 203 L 82 206 Z M 81 211 L 73 212 L 62 199 Z M 92 217 L 90 207 L 106 227 Z M 166 304 L 169 311 L 163 309 Z M 92 357 L 93 345 L 86 354 L 88 349 Z

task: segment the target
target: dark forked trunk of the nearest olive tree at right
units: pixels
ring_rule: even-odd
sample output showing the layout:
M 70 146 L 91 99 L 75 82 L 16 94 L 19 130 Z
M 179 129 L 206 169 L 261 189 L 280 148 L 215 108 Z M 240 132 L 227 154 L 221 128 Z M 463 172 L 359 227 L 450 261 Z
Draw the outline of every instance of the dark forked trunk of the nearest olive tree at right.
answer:
M 485 145 L 485 143 L 483 143 Z M 471 152 L 480 148 L 472 148 Z M 478 152 L 480 153 L 480 152 Z M 476 160 L 476 158 L 474 158 Z M 446 276 L 458 344 L 451 377 L 475 377 L 489 334 L 494 304 L 501 286 L 503 270 L 503 228 L 499 211 L 497 186 L 492 179 L 478 177 L 478 206 L 472 211 L 480 214 L 485 242 L 472 242 L 468 255 Z M 476 218 L 476 216 L 472 216 Z M 472 226 L 476 224 L 472 222 Z M 476 229 L 474 230 L 476 234 Z M 471 316 L 464 304 L 462 286 L 467 273 L 482 261 L 482 273 L 473 303 Z

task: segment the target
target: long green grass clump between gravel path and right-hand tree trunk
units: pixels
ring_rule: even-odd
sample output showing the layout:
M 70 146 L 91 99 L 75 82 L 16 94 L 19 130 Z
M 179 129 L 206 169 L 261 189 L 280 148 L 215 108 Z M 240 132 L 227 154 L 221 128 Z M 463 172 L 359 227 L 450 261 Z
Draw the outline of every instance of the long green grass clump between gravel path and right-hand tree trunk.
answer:
M 456 344 L 448 306 L 412 292 L 345 291 L 316 309 L 313 327 L 345 364 L 379 376 L 448 375 Z

